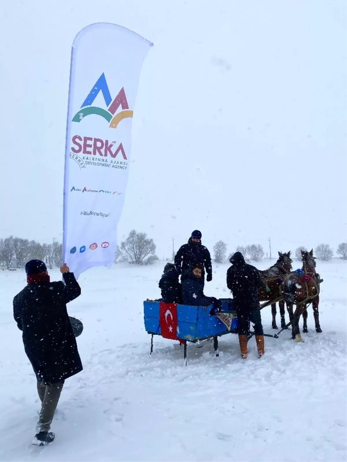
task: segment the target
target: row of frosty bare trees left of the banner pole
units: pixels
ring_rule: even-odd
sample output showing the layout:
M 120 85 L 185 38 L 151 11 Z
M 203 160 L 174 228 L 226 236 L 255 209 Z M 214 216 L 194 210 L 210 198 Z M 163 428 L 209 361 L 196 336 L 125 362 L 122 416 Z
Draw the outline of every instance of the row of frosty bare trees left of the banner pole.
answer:
M 21 237 L 0 239 L 0 266 L 22 268 L 29 260 L 42 260 L 50 269 L 62 266 L 62 244 L 41 244 Z

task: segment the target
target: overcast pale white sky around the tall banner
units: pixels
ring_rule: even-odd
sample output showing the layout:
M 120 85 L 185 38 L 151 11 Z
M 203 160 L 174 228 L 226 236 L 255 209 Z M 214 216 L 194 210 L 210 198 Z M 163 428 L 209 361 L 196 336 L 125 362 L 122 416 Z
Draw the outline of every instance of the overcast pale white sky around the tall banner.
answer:
M 70 50 L 87 24 L 154 42 L 121 240 L 193 229 L 273 249 L 347 240 L 346 0 L 11 0 L 0 7 L 0 237 L 62 239 Z

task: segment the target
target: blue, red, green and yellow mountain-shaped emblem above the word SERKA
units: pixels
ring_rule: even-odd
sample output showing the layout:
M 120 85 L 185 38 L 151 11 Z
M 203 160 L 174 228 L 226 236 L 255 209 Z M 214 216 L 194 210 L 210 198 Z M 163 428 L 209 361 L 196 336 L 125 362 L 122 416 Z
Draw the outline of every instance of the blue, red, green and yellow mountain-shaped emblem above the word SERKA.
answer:
M 92 106 L 95 98 L 98 96 L 99 92 L 102 92 L 104 97 L 107 110 Z M 119 106 L 122 106 L 122 110 L 115 115 Z M 124 87 L 119 91 L 118 95 L 112 101 L 110 90 L 108 89 L 105 74 L 102 73 L 99 79 L 93 85 L 92 90 L 89 92 L 89 95 L 84 100 L 84 103 L 72 119 L 72 122 L 81 122 L 81 120 L 86 117 L 94 114 L 96 116 L 104 117 L 107 122 L 110 124 L 110 128 L 117 128 L 118 123 L 126 119 L 127 117 L 133 116 L 133 111 L 129 109 L 128 101 L 125 96 Z

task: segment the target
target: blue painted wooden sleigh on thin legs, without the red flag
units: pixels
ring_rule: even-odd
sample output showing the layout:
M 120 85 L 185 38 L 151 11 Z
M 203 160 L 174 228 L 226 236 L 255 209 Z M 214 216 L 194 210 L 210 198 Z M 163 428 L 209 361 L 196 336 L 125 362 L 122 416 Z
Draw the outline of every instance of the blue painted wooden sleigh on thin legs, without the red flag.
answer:
M 162 302 L 143 302 L 144 308 L 144 325 L 148 334 L 151 334 L 151 350 L 153 352 L 153 336 L 162 335 L 160 306 L 169 308 L 174 306 L 177 310 L 177 329 L 176 336 L 173 340 L 179 340 L 184 344 L 184 359 L 186 361 L 187 342 L 198 342 L 199 340 L 208 340 L 213 338 L 213 345 L 216 356 L 219 356 L 218 337 L 225 334 L 237 334 L 238 322 L 235 311 L 232 309 L 230 300 L 222 300 L 221 313 L 232 314 L 230 330 L 216 316 L 211 316 L 210 312 L 213 305 L 210 306 L 188 306 L 179 304 L 165 304 Z M 171 313 L 170 313 L 171 314 Z M 176 316 L 176 313 L 175 313 Z M 167 337 L 165 338 L 172 338 Z

